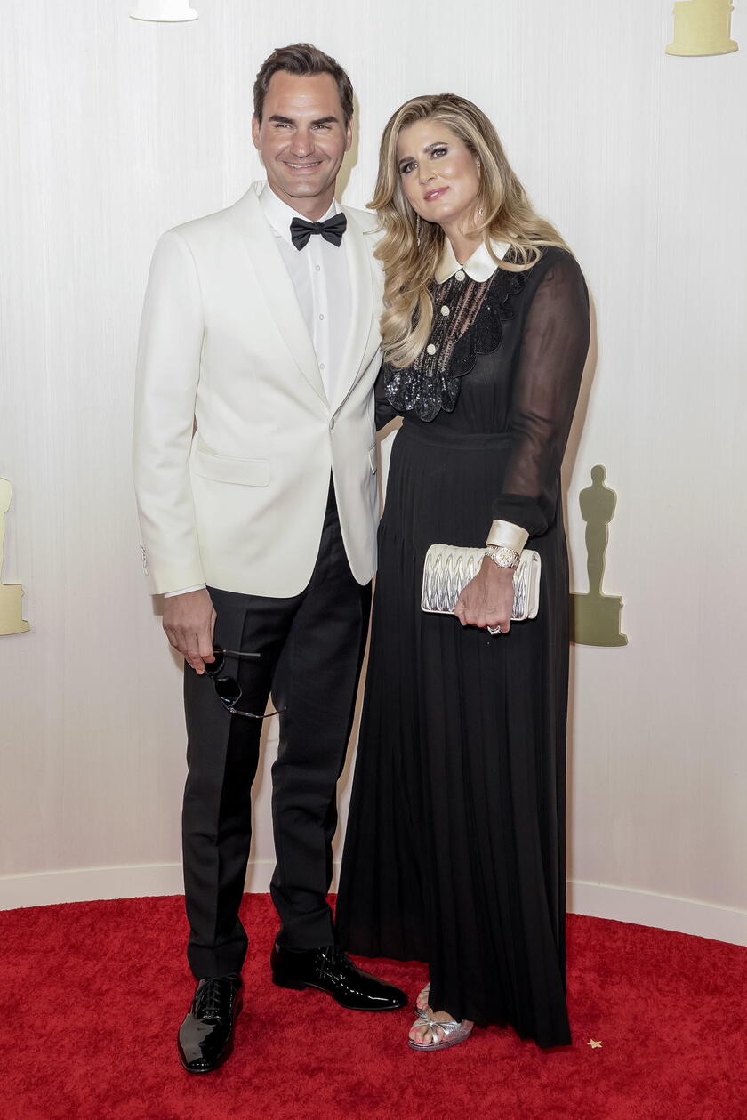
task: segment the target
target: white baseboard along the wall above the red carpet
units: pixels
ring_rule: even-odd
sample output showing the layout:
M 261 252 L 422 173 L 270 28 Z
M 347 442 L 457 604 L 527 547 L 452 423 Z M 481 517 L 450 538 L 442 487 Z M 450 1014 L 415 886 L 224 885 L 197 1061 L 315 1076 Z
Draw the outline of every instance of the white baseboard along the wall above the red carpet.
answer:
M 269 890 L 273 866 L 271 859 L 250 864 L 246 890 L 253 894 Z M 335 864 L 333 890 L 337 887 L 337 872 L 338 865 Z M 0 878 L 0 911 L 100 898 L 179 895 L 183 890 L 180 864 L 86 867 L 71 871 L 11 875 Z M 568 883 L 568 909 L 572 914 L 614 918 L 747 945 L 747 911 L 713 906 L 692 898 L 571 879 Z

